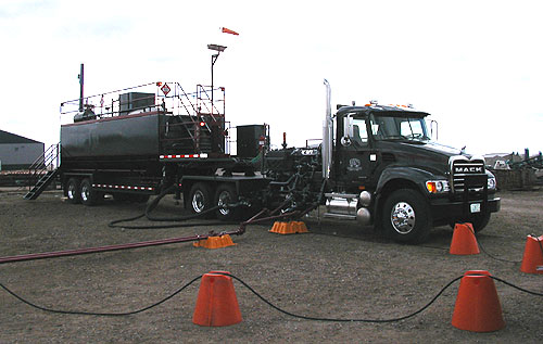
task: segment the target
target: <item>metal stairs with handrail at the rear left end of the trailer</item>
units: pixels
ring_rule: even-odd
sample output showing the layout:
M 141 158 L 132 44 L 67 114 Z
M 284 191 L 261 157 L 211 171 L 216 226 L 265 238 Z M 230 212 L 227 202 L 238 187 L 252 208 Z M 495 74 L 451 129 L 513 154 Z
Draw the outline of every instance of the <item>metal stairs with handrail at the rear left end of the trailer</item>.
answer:
M 28 193 L 25 200 L 36 200 L 59 174 L 60 143 L 52 144 L 28 167 Z

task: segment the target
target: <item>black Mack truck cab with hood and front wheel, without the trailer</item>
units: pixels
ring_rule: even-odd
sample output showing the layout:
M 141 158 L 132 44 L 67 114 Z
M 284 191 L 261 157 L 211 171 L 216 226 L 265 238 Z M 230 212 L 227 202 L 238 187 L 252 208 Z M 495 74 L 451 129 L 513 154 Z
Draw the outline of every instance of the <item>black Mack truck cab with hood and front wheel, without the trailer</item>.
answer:
M 325 216 L 356 217 L 401 242 L 421 242 L 433 226 L 456 222 L 481 231 L 500 211 L 496 179 L 482 157 L 432 141 L 428 116 L 375 102 L 338 105 L 336 118 L 330 116 L 336 135 L 323 148 L 324 174 L 332 186 Z

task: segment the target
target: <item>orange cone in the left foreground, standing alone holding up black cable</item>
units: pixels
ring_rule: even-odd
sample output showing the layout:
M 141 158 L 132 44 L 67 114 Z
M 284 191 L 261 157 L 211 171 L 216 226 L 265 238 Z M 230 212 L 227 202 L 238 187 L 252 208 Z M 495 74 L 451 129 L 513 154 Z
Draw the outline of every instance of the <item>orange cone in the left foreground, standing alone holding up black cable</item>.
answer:
M 211 271 L 202 277 L 192 322 L 199 326 L 219 327 L 241 322 L 238 298 L 232 278 Z

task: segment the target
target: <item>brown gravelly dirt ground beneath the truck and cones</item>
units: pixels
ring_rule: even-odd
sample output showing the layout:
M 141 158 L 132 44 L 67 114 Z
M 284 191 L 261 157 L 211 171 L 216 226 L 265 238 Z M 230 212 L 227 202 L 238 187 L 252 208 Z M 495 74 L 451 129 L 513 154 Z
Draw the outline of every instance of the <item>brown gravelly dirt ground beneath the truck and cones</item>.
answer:
M 0 256 L 79 249 L 233 230 L 237 225 L 177 229 L 112 229 L 111 220 L 142 213 L 142 204 L 113 201 L 71 205 L 59 191 L 25 201 L 0 192 Z M 211 270 L 227 270 L 278 307 L 326 318 L 389 319 L 427 304 L 467 270 L 482 269 L 528 290 L 543 292 L 543 275 L 519 270 L 529 233 L 543 234 L 543 190 L 501 192 L 502 211 L 478 235 L 489 253 L 450 255 L 452 230 L 435 228 L 427 243 L 390 242 L 371 228 L 306 218 L 311 233 L 269 233 L 272 224 L 248 227 L 236 246 L 206 250 L 191 243 L 0 265 L 0 283 L 45 307 L 99 313 L 129 311 L 167 296 Z M 165 199 L 156 215 L 181 215 Z M 149 224 L 138 220 L 135 224 Z M 153 224 L 154 225 L 154 224 Z M 301 320 L 233 285 L 243 320 L 229 327 L 192 323 L 200 281 L 138 315 L 58 315 L 31 308 L 0 290 L 0 343 L 283 343 L 283 342 L 523 342 L 543 339 L 543 298 L 495 282 L 506 327 L 490 333 L 451 324 L 459 282 L 429 308 L 391 323 Z

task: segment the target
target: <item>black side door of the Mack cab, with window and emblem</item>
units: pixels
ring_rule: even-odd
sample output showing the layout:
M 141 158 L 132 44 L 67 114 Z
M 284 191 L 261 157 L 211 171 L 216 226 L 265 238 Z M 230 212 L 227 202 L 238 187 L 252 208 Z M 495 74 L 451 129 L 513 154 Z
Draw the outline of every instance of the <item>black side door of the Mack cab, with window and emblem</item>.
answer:
M 349 192 L 357 192 L 367 187 L 371 175 L 371 160 L 366 126 L 366 115 L 352 113 L 343 117 L 343 126 L 338 128 L 337 179 Z

